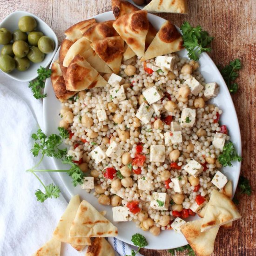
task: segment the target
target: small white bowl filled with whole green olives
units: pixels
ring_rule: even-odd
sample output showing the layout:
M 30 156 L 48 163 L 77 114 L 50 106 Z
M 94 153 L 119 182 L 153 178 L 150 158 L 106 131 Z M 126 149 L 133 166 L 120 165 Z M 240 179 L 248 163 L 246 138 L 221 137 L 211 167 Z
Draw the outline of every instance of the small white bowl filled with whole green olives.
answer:
M 0 23 L 0 71 L 17 81 L 31 81 L 57 51 L 54 31 L 32 13 L 16 11 Z

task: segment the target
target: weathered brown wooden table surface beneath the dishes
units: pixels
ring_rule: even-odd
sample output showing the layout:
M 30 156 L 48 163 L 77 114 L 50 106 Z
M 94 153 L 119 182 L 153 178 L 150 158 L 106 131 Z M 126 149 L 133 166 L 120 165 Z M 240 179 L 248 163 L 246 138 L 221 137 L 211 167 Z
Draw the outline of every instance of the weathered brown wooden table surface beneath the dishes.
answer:
M 111 10 L 111 0 L 0 0 L 0 4 L 0 21 L 16 10 L 34 13 L 53 28 L 59 42 L 70 25 Z M 207 30 L 215 37 L 210 56 L 216 64 L 226 65 L 235 58 L 243 63 L 237 79 L 239 91 L 232 98 L 243 141 L 241 173 L 249 178 L 253 194 L 240 199 L 242 220 L 233 223 L 230 231 L 220 229 L 215 255 L 256 255 L 256 1 L 189 0 L 189 15 L 160 13 L 159 16 L 179 27 L 188 20 L 193 26 L 201 25 Z M 166 250 L 144 249 L 141 253 L 145 256 L 170 255 Z

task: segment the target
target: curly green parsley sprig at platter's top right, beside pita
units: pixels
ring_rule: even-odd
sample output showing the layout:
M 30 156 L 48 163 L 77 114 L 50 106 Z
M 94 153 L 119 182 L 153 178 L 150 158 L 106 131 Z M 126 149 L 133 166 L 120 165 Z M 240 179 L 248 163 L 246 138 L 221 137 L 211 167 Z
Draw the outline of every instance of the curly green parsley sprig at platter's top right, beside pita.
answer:
M 189 52 L 189 58 L 197 61 L 199 55 L 203 52 L 210 52 L 209 44 L 213 37 L 209 36 L 207 31 L 203 31 L 201 26 L 192 27 L 188 21 L 185 21 L 181 27 L 183 46 Z

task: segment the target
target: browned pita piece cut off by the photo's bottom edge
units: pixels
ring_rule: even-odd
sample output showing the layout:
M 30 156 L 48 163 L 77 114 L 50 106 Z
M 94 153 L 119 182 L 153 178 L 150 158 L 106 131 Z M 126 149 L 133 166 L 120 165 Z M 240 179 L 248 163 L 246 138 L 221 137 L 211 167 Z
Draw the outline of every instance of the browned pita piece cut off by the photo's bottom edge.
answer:
M 115 252 L 104 237 L 96 237 L 85 256 L 115 256 Z

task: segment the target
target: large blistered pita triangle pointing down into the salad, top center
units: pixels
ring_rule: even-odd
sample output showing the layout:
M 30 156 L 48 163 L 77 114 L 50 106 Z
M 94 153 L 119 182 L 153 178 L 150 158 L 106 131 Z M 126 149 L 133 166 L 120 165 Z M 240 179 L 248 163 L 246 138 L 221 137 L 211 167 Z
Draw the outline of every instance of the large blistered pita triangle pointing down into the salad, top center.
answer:
M 148 26 L 146 11 L 125 14 L 113 23 L 113 27 L 117 33 L 126 41 L 138 57 L 141 57 L 145 52 Z

